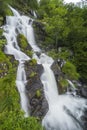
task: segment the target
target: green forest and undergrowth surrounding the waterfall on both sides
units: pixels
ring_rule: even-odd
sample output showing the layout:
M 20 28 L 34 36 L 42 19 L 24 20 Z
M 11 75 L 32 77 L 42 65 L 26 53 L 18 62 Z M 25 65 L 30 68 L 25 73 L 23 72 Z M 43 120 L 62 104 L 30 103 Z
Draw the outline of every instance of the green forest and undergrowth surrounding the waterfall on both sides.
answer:
M 39 46 L 55 61 L 61 59 L 66 62 L 62 68 L 65 77 L 87 88 L 86 2 L 75 5 L 65 4 L 63 0 L 0 0 L 0 130 L 44 130 L 39 117 L 24 118 L 15 84 L 18 62 L 4 53 L 6 38 L 2 26 L 6 23 L 6 16 L 13 16 L 9 5 L 35 19 L 43 32 L 43 36 L 38 34 Z M 38 32 L 37 27 L 33 27 Z M 23 35 L 19 35 L 18 41 L 23 51 L 32 55 L 25 49 L 27 41 Z M 33 75 L 35 73 L 31 77 Z M 64 87 L 66 84 L 62 79 L 61 85 Z M 40 93 L 37 92 L 37 95 L 40 96 Z

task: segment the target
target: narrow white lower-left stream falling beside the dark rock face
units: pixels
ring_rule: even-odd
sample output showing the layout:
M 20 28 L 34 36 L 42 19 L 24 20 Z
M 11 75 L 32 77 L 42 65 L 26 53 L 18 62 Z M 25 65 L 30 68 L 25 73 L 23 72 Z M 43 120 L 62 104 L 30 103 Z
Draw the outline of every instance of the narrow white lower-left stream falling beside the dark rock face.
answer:
M 21 108 L 25 112 L 25 117 L 28 117 L 30 106 L 26 95 L 25 84 L 26 84 L 26 74 L 24 70 L 24 63 L 20 61 L 17 71 L 16 85 L 21 98 Z

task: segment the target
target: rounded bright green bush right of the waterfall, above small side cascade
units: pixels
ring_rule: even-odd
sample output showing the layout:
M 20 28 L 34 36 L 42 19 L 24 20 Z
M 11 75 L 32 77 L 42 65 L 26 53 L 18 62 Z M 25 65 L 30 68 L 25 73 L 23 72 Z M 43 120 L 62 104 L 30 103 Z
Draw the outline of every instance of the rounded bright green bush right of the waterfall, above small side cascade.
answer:
M 69 61 L 67 61 L 65 63 L 65 65 L 62 68 L 62 72 L 68 76 L 70 79 L 78 79 L 79 78 L 79 74 L 76 71 L 76 67 L 70 63 Z

